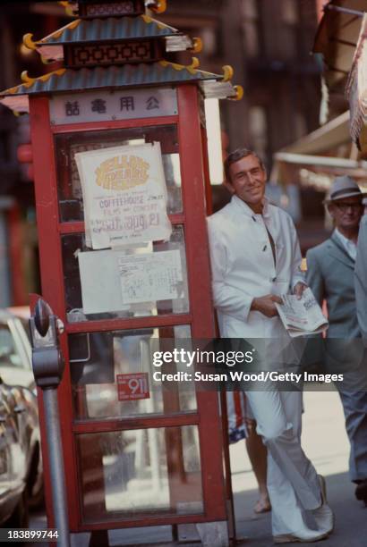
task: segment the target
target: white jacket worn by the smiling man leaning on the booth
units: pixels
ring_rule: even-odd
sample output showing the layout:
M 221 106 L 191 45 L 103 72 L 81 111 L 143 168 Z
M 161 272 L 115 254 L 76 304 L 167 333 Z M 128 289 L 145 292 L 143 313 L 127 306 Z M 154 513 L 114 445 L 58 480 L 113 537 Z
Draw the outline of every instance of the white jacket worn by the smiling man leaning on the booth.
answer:
M 274 240 L 276 265 L 267 228 Z M 286 330 L 278 317 L 250 311 L 252 299 L 282 295 L 303 281 L 301 251 L 292 218 L 265 200 L 255 215 L 234 196 L 208 218 L 214 306 L 220 335 L 225 338 L 282 338 Z

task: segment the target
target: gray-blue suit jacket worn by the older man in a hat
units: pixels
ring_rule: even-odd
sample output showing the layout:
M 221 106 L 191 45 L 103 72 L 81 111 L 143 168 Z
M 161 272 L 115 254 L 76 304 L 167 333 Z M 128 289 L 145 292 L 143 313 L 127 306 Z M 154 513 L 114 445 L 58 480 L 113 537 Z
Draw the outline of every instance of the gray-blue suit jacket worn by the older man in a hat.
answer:
M 335 234 L 307 253 L 307 282 L 329 313 L 328 338 L 361 336 L 355 310 L 354 260 Z

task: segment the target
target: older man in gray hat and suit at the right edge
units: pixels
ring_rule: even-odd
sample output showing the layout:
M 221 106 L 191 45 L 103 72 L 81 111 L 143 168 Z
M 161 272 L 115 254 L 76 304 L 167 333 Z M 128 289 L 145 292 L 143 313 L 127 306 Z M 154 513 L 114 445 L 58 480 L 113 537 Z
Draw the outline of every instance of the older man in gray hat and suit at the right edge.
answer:
M 335 229 L 329 240 L 308 251 L 307 282 L 319 303 L 325 299 L 328 305 L 325 365 L 329 372 L 337 368 L 338 372 L 342 369 L 346 373 L 345 382 L 338 389 L 351 445 L 351 480 L 359 484 L 367 479 L 367 392 L 356 314 L 354 266 L 363 216 L 363 192 L 351 177 L 337 177 L 324 203 Z M 358 492 L 357 487 L 358 499 L 367 501 L 367 492 L 366 498 L 361 498 Z

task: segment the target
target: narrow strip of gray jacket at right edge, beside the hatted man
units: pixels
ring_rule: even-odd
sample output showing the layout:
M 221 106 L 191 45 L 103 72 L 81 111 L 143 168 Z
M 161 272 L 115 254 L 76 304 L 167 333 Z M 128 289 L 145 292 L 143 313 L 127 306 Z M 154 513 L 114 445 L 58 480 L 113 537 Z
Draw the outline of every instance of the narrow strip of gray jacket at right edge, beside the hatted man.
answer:
M 359 229 L 354 281 L 358 323 L 363 338 L 367 339 L 367 215 L 363 216 Z

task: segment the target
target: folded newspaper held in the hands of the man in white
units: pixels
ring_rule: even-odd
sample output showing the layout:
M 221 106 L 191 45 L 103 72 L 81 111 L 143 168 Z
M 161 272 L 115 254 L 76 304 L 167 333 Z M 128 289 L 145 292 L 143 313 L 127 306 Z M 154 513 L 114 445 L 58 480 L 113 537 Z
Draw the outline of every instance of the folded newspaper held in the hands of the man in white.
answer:
M 293 338 L 323 332 L 329 327 L 310 288 L 303 290 L 301 299 L 297 299 L 294 294 L 285 294 L 282 300 L 283 304 L 276 303 L 277 313 Z

